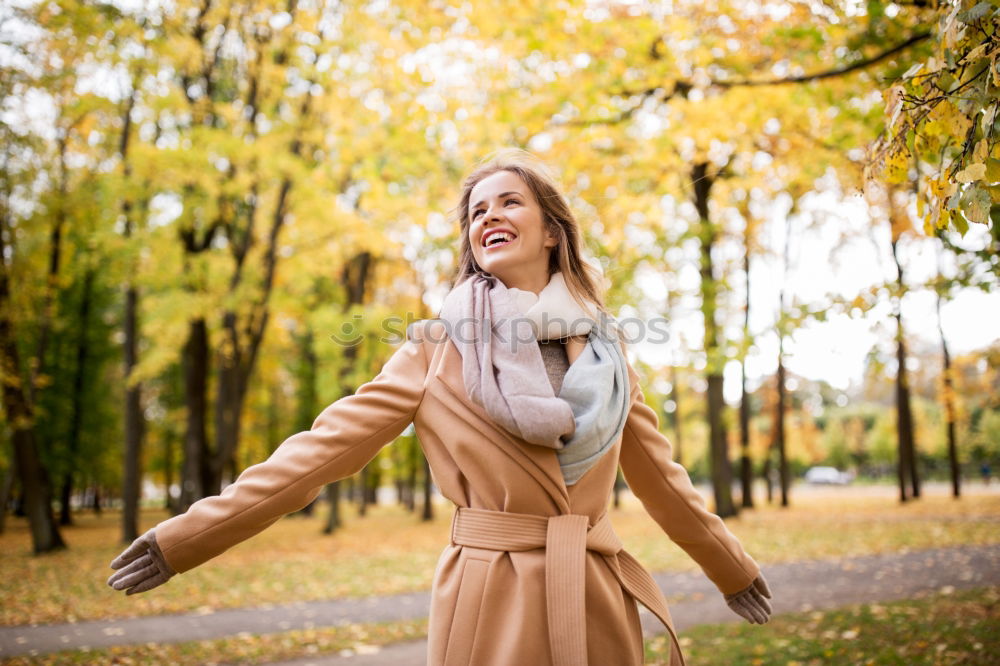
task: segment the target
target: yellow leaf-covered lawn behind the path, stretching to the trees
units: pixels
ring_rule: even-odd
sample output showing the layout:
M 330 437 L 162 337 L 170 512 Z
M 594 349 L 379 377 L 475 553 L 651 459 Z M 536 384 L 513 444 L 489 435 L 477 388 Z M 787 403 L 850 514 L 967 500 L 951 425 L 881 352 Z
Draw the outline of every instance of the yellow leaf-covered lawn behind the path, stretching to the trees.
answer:
M 899 506 L 886 491 L 837 488 L 796 493 L 789 509 L 761 507 L 727 521 L 759 562 L 832 558 L 937 546 L 1000 542 L 1000 494 L 959 501 L 925 497 Z M 81 514 L 64 530 L 67 551 L 35 557 L 23 519 L 0 535 L 0 624 L 74 622 L 238 608 L 264 604 L 427 590 L 448 543 L 451 511 L 438 507 L 429 524 L 396 506 L 321 534 L 316 517 L 288 517 L 215 560 L 145 594 L 126 597 L 105 585 L 121 551 L 117 513 Z M 625 547 L 651 571 L 697 565 L 635 500 L 612 510 Z M 141 529 L 166 518 L 143 514 Z

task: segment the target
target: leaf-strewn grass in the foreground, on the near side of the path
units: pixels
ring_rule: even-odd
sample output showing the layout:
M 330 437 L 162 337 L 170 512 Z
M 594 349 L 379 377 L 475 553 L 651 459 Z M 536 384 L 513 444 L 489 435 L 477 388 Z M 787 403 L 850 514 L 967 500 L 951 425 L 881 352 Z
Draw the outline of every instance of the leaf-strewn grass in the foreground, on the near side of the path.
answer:
M 358 654 L 426 636 L 425 621 L 350 625 L 175 645 L 138 645 L 15 658 L 26 664 L 265 663 L 303 656 Z M 864 604 L 775 617 L 767 625 L 704 625 L 680 636 L 690 666 L 934 665 L 996 663 L 1000 588 L 944 591 L 916 600 Z M 646 641 L 646 663 L 666 664 L 667 638 Z

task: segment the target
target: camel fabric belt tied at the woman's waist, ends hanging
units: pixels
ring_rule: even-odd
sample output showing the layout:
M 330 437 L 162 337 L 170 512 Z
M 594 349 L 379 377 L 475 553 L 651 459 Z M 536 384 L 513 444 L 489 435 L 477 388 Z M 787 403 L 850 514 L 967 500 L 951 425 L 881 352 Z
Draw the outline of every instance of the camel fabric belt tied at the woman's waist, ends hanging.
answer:
M 451 541 L 486 550 L 545 548 L 546 615 L 554 666 L 587 664 L 584 586 L 588 550 L 603 555 L 625 591 L 659 618 L 684 663 L 663 592 L 639 561 L 622 549 L 607 514 L 589 527 L 587 516 L 577 514 L 546 517 L 459 508 L 452 519 Z

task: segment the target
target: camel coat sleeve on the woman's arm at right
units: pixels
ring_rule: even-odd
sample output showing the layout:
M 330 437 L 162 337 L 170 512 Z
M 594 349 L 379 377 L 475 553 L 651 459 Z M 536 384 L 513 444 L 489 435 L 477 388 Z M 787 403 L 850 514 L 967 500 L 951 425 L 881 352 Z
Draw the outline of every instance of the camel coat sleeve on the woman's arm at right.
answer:
M 687 470 L 674 462 L 670 442 L 646 404 L 638 375 L 629 365 L 638 394 L 625 422 L 619 461 L 629 488 L 672 541 L 697 562 L 723 594 L 745 589 L 760 573 L 722 519 L 705 507 Z

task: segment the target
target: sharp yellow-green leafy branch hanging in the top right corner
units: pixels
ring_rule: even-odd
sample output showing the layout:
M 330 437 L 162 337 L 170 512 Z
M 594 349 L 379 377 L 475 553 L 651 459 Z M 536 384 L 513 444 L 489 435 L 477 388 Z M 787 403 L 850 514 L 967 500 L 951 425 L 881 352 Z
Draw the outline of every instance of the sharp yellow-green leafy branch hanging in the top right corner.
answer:
M 883 92 L 885 126 L 871 146 L 866 175 L 908 183 L 916 160 L 925 231 L 951 226 L 964 234 L 970 222 L 992 219 L 996 253 L 1000 8 L 976 0 L 922 4 L 933 10 L 932 53 Z

